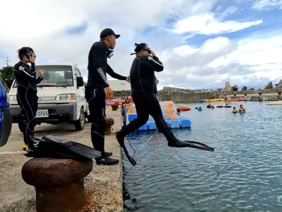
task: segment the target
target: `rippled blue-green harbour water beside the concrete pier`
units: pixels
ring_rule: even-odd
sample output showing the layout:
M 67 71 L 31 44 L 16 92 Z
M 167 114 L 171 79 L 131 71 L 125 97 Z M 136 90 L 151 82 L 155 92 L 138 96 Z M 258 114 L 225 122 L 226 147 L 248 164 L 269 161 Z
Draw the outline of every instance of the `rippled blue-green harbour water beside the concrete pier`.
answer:
M 136 150 L 124 156 L 124 211 L 282 211 L 282 105 L 235 102 L 247 110 L 207 109 L 187 103 L 191 129 L 174 129 L 177 138 L 215 148 L 167 147 L 161 133 L 131 133 Z M 213 102 L 214 106 L 224 102 Z M 203 111 L 195 110 L 202 106 Z

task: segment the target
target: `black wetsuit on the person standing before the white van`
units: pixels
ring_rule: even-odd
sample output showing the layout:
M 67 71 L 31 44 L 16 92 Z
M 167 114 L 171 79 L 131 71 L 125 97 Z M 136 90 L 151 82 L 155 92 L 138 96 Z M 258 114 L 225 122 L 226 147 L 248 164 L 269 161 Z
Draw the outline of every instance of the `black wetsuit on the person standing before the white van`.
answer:
M 14 65 L 14 77 L 17 83 L 17 102 L 21 107 L 21 117 L 25 115 L 26 125 L 24 131 L 24 142 L 29 148 L 33 147 L 33 141 L 29 136 L 34 135 L 34 127 L 37 111 L 37 88 L 36 84 L 40 83 L 43 78 L 36 79 L 35 64 L 31 67 L 23 62 Z M 22 119 L 20 119 L 22 121 Z

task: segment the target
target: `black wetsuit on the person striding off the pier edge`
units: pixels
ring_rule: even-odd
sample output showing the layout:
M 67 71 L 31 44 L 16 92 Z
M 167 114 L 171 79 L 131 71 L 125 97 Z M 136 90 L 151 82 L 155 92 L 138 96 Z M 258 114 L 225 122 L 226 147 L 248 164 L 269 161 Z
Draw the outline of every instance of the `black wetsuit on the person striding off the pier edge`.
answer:
M 170 131 L 162 116 L 160 104 L 155 96 L 156 83 L 154 71 L 162 71 L 163 65 L 157 57 L 137 56 L 130 69 L 132 99 L 135 103 L 137 118 L 132 120 L 120 131 L 126 136 L 146 124 L 149 115 L 155 120 L 157 129 L 165 135 L 167 141 L 175 142 L 177 139 Z

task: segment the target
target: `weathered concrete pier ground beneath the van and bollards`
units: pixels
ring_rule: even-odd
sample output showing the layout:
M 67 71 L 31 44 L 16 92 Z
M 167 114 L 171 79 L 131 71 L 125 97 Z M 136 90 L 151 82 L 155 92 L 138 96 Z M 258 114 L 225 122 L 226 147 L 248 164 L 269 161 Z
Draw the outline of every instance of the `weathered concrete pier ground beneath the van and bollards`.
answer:
M 106 117 L 113 118 L 113 129 L 120 129 L 120 108 L 112 111 L 106 108 Z M 35 137 L 52 134 L 59 138 L 77 141 L 92 147 L 91 124 L 84 130 L 75 131 L 73 124 L 41 124 L 35 127 Z M 122 159 L 121 149 L 115 139 L 115 132 L 105 135 L 105 150 L 112 151 L 112 158 L 119 159 L 118 165 L 96 165 L 84 179 L 86 204 L 80 212 L 122 212 Z M 21 168 L 27 160 L 22 151 L 23 135 L 17 124 L 13 124 L 7 144 L 0 148 L 0 211 L 35 212 L 35 188 L 21 178 Z M 58 170 L 59 171 L 59 170 Z

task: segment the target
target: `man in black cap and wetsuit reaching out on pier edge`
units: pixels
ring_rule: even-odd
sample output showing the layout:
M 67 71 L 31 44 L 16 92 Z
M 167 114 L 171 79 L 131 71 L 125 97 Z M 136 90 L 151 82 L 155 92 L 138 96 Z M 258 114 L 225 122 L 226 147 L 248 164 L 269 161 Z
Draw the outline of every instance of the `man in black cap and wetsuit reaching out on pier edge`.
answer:
M 112 29 L 104 29 L 100 34 L 100 41 L 92 45 L 88 55 L 88 80 L 85 86 L 85 98 L 89 104 L 91 125 L 91 140 L 93 147 L 102 152 L 102 157 L 96 159 L 96 164 L 114 165 L 119 160 L 109 156 L 112 152 L 105 152 L 105 109 L 106 99 L 113 99 L 114 94 L 110 89 L 106 73 L 111 77 L 129 82 L 129 76 L 121 76 L 115 73 L 107 64 L 107 58 L 113 56 L 115 39 L 120 35 Z

